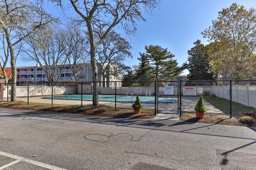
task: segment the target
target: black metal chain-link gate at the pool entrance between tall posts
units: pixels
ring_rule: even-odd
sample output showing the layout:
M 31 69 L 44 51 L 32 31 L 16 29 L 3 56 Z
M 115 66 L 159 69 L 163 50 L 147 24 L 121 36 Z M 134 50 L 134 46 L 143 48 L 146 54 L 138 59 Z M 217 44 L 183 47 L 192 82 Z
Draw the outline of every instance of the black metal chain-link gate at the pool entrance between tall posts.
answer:
M 157 81 L 155 83 L 155 113 L 180 116 L 180 81 Z

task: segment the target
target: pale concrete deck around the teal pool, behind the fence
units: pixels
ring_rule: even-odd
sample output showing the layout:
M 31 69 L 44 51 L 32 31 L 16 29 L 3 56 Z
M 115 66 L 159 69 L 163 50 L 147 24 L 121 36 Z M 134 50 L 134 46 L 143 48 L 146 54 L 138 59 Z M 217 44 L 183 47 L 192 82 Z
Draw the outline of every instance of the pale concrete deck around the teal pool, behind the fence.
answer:
M 29 97 L 29 98 L 17 98 L 18 100 L 23 100 L 24 102 L 35 102 L 35 103 L 47 103 L 47 104 L 67 104 L 67 105 L 79 105 L 81 106 L 80 100 L 57 100 L 57 99 L 42 99 L 44 96 L 36 96 L 36 97 Z M 199 97 L 182 97 L 182 111 L 194 112 L 194 107 L 198 101 Z M 92 104 L 92 101 L 82 101 L 82 105 Z M 115 107 L 114 102 L 101 102 L 99 104 L 105 104 L 107 106 Z M 223 113 L 216 107 L 212 106 L 210 103 L 204 100 L 204 104 L 207 107 L 207 113 Z M 154 104 L 142 104 L 143 108 L 147 109 L 154 109 Z M 131 108 L 132 103 L 126 102 L 121 103 L 117 102 L 116 107 L 124 107 L 124 108 Z M 162 113 L 158 113 L 155 119 L 173 119 L 178 118 L 178 103 L 168 103 L 168 104 L 159 104 L 158 109 L 162 110 Z

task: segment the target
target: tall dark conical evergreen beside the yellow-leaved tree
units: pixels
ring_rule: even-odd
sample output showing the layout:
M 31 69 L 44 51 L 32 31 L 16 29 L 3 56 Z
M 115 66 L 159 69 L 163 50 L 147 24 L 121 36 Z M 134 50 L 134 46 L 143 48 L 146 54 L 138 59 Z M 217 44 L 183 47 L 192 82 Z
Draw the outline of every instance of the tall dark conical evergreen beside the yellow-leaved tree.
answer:
M 207 46 L 201 44 L 198 39 L 194 47 L 188 50 L 189 80 L 214 80 L 214 74 L 210 72 L 210 65 L 207 61 Z

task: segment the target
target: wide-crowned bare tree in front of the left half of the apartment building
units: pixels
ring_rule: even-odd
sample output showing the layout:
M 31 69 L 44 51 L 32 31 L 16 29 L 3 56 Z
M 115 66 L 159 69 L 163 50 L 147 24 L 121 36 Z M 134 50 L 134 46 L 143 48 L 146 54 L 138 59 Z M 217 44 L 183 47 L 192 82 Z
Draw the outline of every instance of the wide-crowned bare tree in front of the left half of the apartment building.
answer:
M 48 82 L 57 82 L 66 63 L 68 48 L 60 36 L 62 30 L 46 25 L 24 41 L 27 46 L 22 48 L 26 55 L 23 60 L 36 61 L 46 73 Z

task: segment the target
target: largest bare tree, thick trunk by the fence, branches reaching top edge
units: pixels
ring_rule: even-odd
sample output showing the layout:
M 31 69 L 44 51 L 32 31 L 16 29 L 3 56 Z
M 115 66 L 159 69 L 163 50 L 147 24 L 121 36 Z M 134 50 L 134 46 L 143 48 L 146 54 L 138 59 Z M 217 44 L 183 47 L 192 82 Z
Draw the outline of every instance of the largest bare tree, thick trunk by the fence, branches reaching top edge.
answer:
M 42 0 L 41 0 L 42 1 Z M 50 0 L 62 6 L 62 0 Z M 136 21 L 143 20 L 144 12 L 151 13 L 160 0 L 69 0 L 84 23 L 90 38 L 90 62 L 93 80 L 93 106 L 98 106 L 98 69 L 96 47 L 107 37 L 114 27 L 122 27 L 128 35 L 136 32 Z M 96 41 L 95 37 L 100 39 Z

